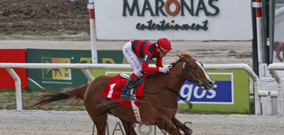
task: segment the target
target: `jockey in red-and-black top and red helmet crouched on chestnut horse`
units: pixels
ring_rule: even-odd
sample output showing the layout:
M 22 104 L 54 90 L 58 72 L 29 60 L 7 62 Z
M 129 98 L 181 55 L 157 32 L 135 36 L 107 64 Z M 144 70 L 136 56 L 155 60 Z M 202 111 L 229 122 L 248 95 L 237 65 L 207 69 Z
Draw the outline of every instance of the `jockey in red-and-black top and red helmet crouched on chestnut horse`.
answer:
M 123 46 L 122 52 L 128 63 L 134 69 L 134 72 L 130 75 L 127 83 L 123 87 L 120 98 L 130 99 L 130 87 L 134 86 L 135 81 L 141 74 L 141 70 L 147 74 L 159 71 L 167 73 L 169 69 L 162 65 L 162 59 L 171 49 L 171 43 L 166 38 L 160 38 L 157 43 L 130 39 L 130 41 Z M 150 60 L 153 58 L 157 58 L 157 67 L 149 67 Z

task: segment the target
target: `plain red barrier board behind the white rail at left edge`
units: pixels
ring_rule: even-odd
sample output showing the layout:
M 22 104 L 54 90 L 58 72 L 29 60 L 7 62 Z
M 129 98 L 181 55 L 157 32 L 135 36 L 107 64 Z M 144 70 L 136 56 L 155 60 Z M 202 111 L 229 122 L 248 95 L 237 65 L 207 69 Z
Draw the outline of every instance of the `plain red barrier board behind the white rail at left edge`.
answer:
M 0 63 L 26 63 L 26 49 L 0 49 Z M 13 69 L 21 80 L 21 89 L 27 87 L 27 69 Z M 15 89 L 15 80 L 5 68 L 0 68 L 0 89 Z

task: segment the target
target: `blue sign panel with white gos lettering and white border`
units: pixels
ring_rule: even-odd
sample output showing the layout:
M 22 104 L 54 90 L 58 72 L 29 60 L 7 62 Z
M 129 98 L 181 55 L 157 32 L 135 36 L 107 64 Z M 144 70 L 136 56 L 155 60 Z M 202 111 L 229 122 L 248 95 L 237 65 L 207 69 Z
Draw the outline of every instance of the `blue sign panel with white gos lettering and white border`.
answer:
M 191 103 L 234 104 L 233 81 L 216 80 L 214 88 L 209 91 L 186 81 L 181 88 L 180 96 Z M 185 103 L 183 100 L 179 98 L 178 103 Z

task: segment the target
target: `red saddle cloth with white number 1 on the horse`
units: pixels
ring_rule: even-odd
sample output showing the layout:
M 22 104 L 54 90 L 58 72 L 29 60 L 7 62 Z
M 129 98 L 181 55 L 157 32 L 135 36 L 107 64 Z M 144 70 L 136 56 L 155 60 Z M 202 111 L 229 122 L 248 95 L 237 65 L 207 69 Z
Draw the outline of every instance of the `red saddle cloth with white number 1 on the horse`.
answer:
M 143 76 L 143 78 L 144 80 L 146 80 L 146 75 Z M 115 78 L 112 79 L 111 82 L 106 85 L 106 88 L 103 92 L 103 96 L 132 108 L 130 100 L 123 101 L 123 99 L 120 99 L 121 90 L 123 86 L 126 84 L 126 82 L 127 82 L 126 78 L 121 77 L 119 74 L 116 75 Z M 135 88 L 136 89 L 135 95 L 137 99 L 137 101 L 135 101 L 136 106 L 139 106 L 140 99 L 143 97 L 144 84 L 145 83 L 142 83 L 141 85 Z

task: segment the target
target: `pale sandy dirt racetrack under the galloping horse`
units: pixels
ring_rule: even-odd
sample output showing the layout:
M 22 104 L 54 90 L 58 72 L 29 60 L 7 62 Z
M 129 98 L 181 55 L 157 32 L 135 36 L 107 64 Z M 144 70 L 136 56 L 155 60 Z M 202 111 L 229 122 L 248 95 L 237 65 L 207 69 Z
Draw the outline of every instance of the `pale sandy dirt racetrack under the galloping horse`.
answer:
M 273 134 L 284 132 L 284 117 L 255 115 L 184 115 L 176 116 L 193 134 Z M 122 134 L 121 122 L 108 115 L 110 134 Z M 136 125 L 137 134 L 155 134 L 154 126 Z M 115 130 L 116 129 L 116 130 Z M 0 134 L 92 134 L 93 123 L 85 111 L 15 111 L 0 110 Z M 96 132 L 95 132 L 96 134 Z M 125 134 L 125 133 L 123 133 Z M 156 134 L 163 134 L 156 128 Z

